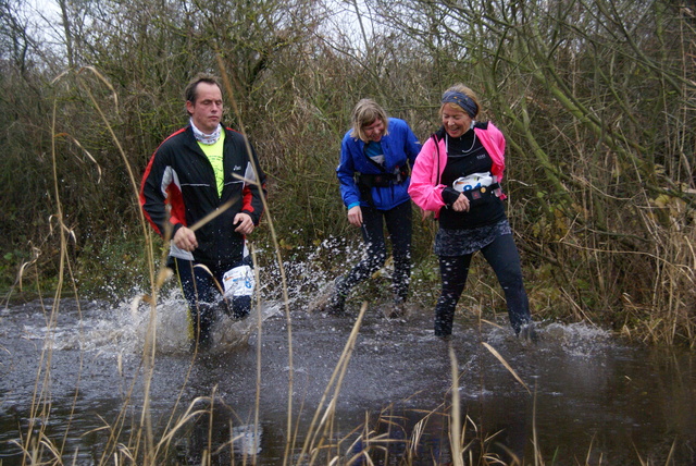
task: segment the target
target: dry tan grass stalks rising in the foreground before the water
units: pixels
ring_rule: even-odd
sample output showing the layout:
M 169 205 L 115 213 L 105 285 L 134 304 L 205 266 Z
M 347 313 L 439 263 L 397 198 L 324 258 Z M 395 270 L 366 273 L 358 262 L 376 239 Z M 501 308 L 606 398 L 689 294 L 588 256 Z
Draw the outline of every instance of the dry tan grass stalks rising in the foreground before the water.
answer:
M 98 74 L 94 69 L 85 69 L 83 72 Z M 99 76 L 103 79 L 102 76 Z M 92 103 L 96 108 L 99 108 L 99 102 L 94 100 Z M 104 124 L 109 126 L 109 122 L 104 119 Z M 119 143 L 115 140 L 117 146 Z M 55 156 L 53 151 L 53 157 Z M 122 161 L 128 164 L 128 160 L 124 157 Z M 55 163 L 55 162 L 53 162 Z M 128 167 L 130 173 L 130 186 L 133 201 L 137 203 L 138 189 L 135 175 Z M 63 283 L 69 282 L 71 284 L 71 292 L 79 303 L 78 290 L 75 286 L 75 280 L 72 273 L 72 265 L 69 255 L 67 242 L 71 237 L 70 228 L 66 225 L 61 206 L 61 197 L 59 189 L 59 179 L 54 176 L 55 185 L 55 199 L 57 199 L 57 225 L 61 237 L 61 268 L 59 273 L 59 285 L 54 294 L 53 305 L 51 311 L 48 315 L 49 329 L 55 324 L 58 312 L 60 312 L 61 297 L 64 296 Z M 282 269 L 282 255 L 281 245 L 275 238 L 275 232 L 273 230 L 273 212 L 266 204 L 268 212 L 268 225 L 271 230 L 271 235 L 274 238 L 274 247 L 276 252 L 276 259 L 278 266 Z M 103 430 L 109 432 L 108 441 L 101 445 L 101 455 L 99 458 L 99 465 L 122 465 L 122 464 L 138 464 L 138 465 L 160 465 L 170 463 L 172 441 L 177 433 L 182 431 L 191 420 L 200 417 L 201 415 L 208 415 L 211 419 L 213 416 L 213 409 L 215 406 L 216 391 L 215 388 L 211 389 L 210 396 L 197 397 L 189 405 L 181 409 L 182 395 L 185 387 L 182 387 L 179 396 L 174 403 L 174 407 L 166 426 L 162 431 L 156 432 L 152 426 L 151 413 L 150 413 L 150 381 L 154 369 L 154 355 L 157 352 L 157 312 L 159 293 L 171 274 L 169 269 L 164 267 L 164 259 L 162 255 L 156 254 L 151 233 L 141 218 L 142 226 L 142 244 L 147 250 L 149 257 L 148 262 L 152 265 L 150 268 L 150 293 L 149 295 L 139 296 L 137 299 L 145 299 L 150 304 L 150 320 L 148 330 L 146 333 L 146 344 L 144 346 L 141 360 L 142 360 L 142 378 L 145 380 L 144 385 L 144 403 L 142 408 L 137 419 L 130 420 L 132 425 L 128 425 L 127 414 L 132 409 L 130 396 L 133 390 L 135 390 L 135 381 L 129 388 L 127 396 L 123 402 L 121 413 L 115 419 L 104 419 Z M 253 255 L 254 261 L 257 260 Z M 159 267 L 154 267 L 159 263 Z M 28 269 L 27 269 L 28 270 Z M 673 269 L 664 267 L 666 277 L 670 273 L 674 273 Z M 283 280 L 285 280 L 283 278 Z M 285 281 L 283 282 L 283 289 L 287 290 Z M 365 416 L 365 422 L 362 426 L 357 426 L 356 429 L 350 432 L 349 437 L 336 438 L 335 429 L 335 407 L 336 402 L 340 396 L 341 382 L 346 375 L 348 363 L 352 348 L 355 347 L 356 339 L 360 331 L 362 318 L 364 316 L 366 304 L 362 306 L 360 314 L 355 322 L 353 329 L 348 335 L 343 355 L 336 365 L 333 376 L 328 381 L 324 395 L 321 402 L 315 407 L 315 413 L 310 426 L 306 431 L 298 431 L 298 424 L 294 419 L 296 407 L 293 404 L 293 358 L 291 358 L 291 318 L 288 307 L 287 292 L 284 294 L 285 312 L 287 321 L 287 340 L 289 342 L 289 377 L 288 384 L 288 406 L 287 406 L 287 444 L 284 456 L 284 464 L 297 464 L 297 465 L 312 465 L 312 464 L 326 464 L 326 465 L 351 465 L 351 464 L 377 464 L 380 462 L 388 462 L 389 455 L 396 457 L 398 464 L 414 464 L 422 462 L 423 457 L 420 457 L 419 451 L 422 450 L 422 436 L 427 422 L 433 421 L 435 418 L 444 419 L 443 437 L 440 439 L 438 456 L 432 457 L 432 461 L 449 463 L 455 465 L 490 465 L 490 464 L 506 464 L 497 454 L 493 454 L 488 451 L 488 447 L 496 442 L 496 433 L 481 432 L 476 424 L 469 416 L 462 418 L 462 412 L 459 402 L 459 380 L 462 377 L 459 373 L 457 358 L 455 352 L 449 347 L 449 355 L 451 360 L 451 387 L 450 395 L 451 402 L 443 405 L 439 408 L 422 413 L 421 420 L 415 424 L 411 432 L 405 431 L 403 426 L 399 422 L 398 417 L 395 417 L 389 407 L 380 413 L 380 415 L 372 419 L 369 415 Z M 257 306 L 260 308 L 260 294 L 257 293 Z M 258 312 L 260 316 L 261 312 Z M 257 366 L 259 368 L 257 387 L 258 390 L 261 387 L 261 326 L 262 321 L 258 321 L 258 347 L 257 347 Z M 59 444 L 55 441 L 49 439 L 45 434 L 45 428 L 49 425 L 48 419 L 51 417 L 51 393 L 50 384 L 46 383 L 46 380 L 50 378 L 50 360 L 51 360 L 51 344 L 48 340 L 52 339 L 51 332 L 48 333 L 47 342 L 45 344 L 45 352 L 41 354 L 40 369 L 37 373 L 37 383 L 35 388 L 35 396 L 32 402 L 32 421 L 29 422 L 26 436 L 23 437 L 18 445 L 24 451 L 24 464 L 28 465 L 41 465 L 41 464 L 72 464 L 71 452 L 64 451 L 64 443 Z M 506 367 L 510 373 L 518 380 L 518 382 L 531 394 L 530 389 L 525 382 L 517 375 L 514 369 L 505 360 L 505 358 L 489 344 L 482 343 L 483 346 L 490 352 L 500 364 Z M 188 381 L 190 375 L 190 368 L 194 367 L 196 353 L 192 354 L 191 363 L 189 366 L 189 373 L 185 378 L 185 383 Z M 259 392 L 257 390 L 256 400 L 257 408 L 254 416 L 254 429 L 259 429 Z M 73 409 L 75 405 L 73 404 Z M 306 407 L 302 407 L 306 408 Z M 311 407 L 310 407 L 311 408 Z M 34 420 L 40 420 L 41 422 L 35 422 Z M 212 424 L 210 426 L 212 429 Z M 66 433 L 70 432 L 70 426 L 66 426 Z M 231 429 L 232 432 L 232 429 Z M 231 433 L 232 436 L 232 433 Z M 213 444 L 212 436 L 209 436 L 209 442 L 204 447 L 204 451 L 200 452 L 201 464 L 210 464 L 212 457 L 219 449 L 232 447 L 231 445 L 237 440 L 234 436 L 223 445 Z M 303 439 L 303 441 L 298 441 Z M 523 462 L 514 456 L 512 452 L 510 456 L 512 459 L 509 465 L 523 465 L 523 464 L 545 464 L 544 458 L 538 449 L 536 439 L 536 428 L 534 427 L 534 447 L 535 455 L 533 461 Z M 250 452 L 243 452 L 243 464 L 257 464 L 256 453 L 257 449 L 252 447 Z M 431 452 L 430 454 L 434 454 Z M 391 464 L 391 463 L 389 463 Z

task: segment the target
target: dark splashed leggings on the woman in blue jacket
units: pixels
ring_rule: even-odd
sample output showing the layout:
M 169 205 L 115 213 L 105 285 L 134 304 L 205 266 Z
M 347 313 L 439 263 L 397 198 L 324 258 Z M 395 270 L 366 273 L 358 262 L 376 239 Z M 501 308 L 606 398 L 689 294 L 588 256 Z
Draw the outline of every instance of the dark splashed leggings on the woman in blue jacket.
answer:
M 411 279 L 411 201 L 399 204 L 390 210 L 361 207 L 362 238 L 366 245 L 364 258 L 343 279 L 338 280 L 338 293 L 346 296 L 350 289 L 370 278 L 384 266 L 387 246 L 383 223 L 386 223 L 394 256 L 393 290 L 397 302 L 405 302 Z

